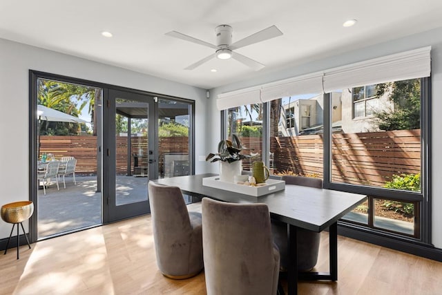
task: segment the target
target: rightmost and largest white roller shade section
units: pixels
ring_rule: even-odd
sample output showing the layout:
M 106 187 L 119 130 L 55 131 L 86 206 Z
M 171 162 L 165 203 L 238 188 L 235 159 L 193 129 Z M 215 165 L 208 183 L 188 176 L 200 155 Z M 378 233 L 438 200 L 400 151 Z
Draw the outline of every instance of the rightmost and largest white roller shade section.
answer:
M 396 53 L 324 71 L 324 91 L 429 77 L 431 47 Z

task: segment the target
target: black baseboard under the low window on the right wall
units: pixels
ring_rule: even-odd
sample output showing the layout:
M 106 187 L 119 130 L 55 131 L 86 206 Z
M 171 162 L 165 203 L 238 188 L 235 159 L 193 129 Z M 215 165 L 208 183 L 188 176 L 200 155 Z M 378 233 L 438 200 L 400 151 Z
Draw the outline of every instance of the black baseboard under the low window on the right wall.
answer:
M 338 235 L 442 262 L 442 249 L 421 242 L 410 242 L 399 238 L 388 237 L 382 234 L 364 231 L 360 228 L 356 229 L 351 225 L 342 224 L 340 222 L 338 222 Z

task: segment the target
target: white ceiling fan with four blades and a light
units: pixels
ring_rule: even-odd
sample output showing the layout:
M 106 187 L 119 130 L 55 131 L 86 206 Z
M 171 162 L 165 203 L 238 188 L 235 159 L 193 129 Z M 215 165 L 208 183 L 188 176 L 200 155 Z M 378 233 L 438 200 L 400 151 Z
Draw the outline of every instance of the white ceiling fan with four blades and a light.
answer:
M 270 26 L 269 28 L 260 30 L 259 32 L 256 32 L 255 34 L 245 37 L 244 39 L 236 41 L 232 44 L 232 32 L 233 28 L 229 25 L 217 26 L 215 28 L 216 45 L 206 41 L 202 41 L 200 39 L 193 38 L 189 35 L 184 35 L 174 30 L 171 32 L 166 32 L 166 35 L 215 49 L 215 53 L 209 55 L 208 57 L 204 57 L 200 61 L 195 62 L 195 64 L 191 64 L 187 68 L 184 68 L 185 70 L 193 70 L 194 68 L 204 64 L 206 61 L 213 59 L 214 57 L 218 57 L 218 59 L 233 58 L 237 61 L 240 61 L 242 64 L 253 68 L 253 70 L 260 70 L 264 68 L 265 65 L 253 59 L 250 59 L 249 57 L 240 55 L 233 50 L 282 35 L 282 32 L 278 28 L 276 28 L 276 26 Z

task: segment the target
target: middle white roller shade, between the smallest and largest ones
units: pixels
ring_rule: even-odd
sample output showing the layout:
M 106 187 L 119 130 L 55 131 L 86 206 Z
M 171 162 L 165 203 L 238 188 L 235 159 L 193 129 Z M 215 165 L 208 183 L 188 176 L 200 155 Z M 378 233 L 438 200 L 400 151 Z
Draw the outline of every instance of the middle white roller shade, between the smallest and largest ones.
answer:
M 262 85 L 261 101 L 307 93 L 323 93 L 323 72 L 302 75 Z

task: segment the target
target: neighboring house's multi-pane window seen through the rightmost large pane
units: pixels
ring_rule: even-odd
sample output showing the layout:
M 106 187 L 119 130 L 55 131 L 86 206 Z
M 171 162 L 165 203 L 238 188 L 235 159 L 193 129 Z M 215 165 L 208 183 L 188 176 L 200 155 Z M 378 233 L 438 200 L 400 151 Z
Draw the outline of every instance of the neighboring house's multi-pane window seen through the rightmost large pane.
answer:
M 374 115 L 378 108 L 376 85 L 355 87 L 352 89 L 352 93 L 354 118 Z

